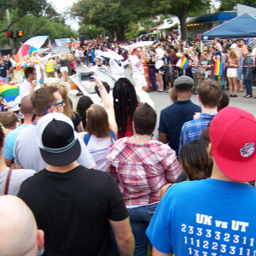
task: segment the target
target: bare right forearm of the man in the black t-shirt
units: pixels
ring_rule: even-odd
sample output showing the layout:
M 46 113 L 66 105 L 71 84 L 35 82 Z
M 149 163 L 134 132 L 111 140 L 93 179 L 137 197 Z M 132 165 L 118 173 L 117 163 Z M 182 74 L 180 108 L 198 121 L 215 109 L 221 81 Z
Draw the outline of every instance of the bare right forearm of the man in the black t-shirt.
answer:
M 113 230 L 113 235 L 119 247 L 122 256 L 132 256 L 135 247 L 134 237 L 131 231 L 129 217 L 121 221 L 113 221 L 108 219 Z

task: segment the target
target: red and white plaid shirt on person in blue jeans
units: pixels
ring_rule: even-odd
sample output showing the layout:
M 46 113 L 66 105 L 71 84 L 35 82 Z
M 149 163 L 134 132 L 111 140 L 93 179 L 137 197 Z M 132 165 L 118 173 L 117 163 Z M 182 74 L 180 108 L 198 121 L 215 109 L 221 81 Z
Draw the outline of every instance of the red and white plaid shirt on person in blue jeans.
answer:
M 106 170 L 114 177 L 126 206 L 143 206 L 160 200 L 160 189 L 174 183 L 182 172 L 175 152 L 158 141 L 116 141 L 107 156 Z

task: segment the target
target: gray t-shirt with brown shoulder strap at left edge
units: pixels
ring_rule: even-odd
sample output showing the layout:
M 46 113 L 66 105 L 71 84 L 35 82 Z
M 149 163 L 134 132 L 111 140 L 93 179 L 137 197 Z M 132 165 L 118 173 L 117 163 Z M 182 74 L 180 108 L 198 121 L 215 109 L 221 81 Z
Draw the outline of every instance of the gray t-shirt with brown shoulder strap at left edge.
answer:
M 0 195 L 3 195 L 8 171 L 9 168 L 6 168 L 3 172 L 0 172 Z M 8 195 L 17 195 L 20 190 L 20 184 L 35 173 L 37 172 L 28 169 L 14 169 L 9 180 Z

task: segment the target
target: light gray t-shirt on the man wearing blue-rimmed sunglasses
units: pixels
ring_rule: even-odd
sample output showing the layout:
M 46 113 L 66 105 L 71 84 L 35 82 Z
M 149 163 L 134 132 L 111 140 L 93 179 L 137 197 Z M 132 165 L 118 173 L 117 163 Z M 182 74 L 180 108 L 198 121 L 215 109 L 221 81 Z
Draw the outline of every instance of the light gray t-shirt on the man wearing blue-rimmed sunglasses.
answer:
M 81 145 L 81 154 L 78 159 L 79 165 L 91 169 L 96 166 L 96 162 L 81 137 L 79 137 L 79 143 Z M 21 165 L 25 169 L 39 172 L 47 166 L 38 148 L 37 125 L 28 125 L 20 131 L 15 143 L 14 157 L 15 164 Z

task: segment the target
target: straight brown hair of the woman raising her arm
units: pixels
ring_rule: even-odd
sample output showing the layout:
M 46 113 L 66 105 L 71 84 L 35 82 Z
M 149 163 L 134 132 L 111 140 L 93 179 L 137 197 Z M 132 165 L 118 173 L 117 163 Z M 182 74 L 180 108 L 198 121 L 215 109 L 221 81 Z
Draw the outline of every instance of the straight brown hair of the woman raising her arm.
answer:
M 108 113 L 102 106 L 92 104 L 87 110 L 86 131 L 96 137 L 110 137 Z

